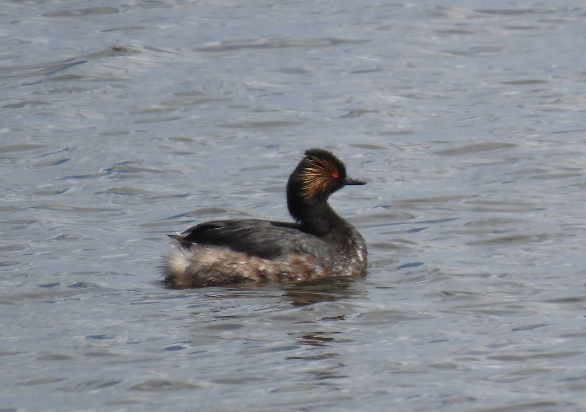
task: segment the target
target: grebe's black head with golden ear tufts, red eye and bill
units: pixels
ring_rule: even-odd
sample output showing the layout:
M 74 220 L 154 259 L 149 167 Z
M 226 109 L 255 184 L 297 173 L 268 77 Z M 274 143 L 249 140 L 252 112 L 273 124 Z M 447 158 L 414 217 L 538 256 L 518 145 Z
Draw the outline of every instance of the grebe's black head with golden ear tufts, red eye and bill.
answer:
M 305 151 L 287 182 L 287 206 L 296 220 L 302 220 L 304 211 L 313 204 L 325 204 L 329 196 L 347 184 L 366 182 L 347 177 L 346 167 L 330 151 L 312 148 Z

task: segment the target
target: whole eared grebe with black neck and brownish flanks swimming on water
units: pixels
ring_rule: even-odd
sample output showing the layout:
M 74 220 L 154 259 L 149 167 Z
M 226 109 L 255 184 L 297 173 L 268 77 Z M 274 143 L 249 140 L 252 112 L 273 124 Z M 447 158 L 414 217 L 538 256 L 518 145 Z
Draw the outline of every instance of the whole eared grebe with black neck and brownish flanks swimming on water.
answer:
M 346 177 L 346 167 L 329 151 L 306 151 L 287 183 L 287 206 L 297 223 L 233 219 L 169 235 L 177 250 L 163 261 L 165 283 L 195 288 L 359 275 L 366 269 L 364 239 L 328 204 L 329 195 L 347 184 L 365 183 Z

